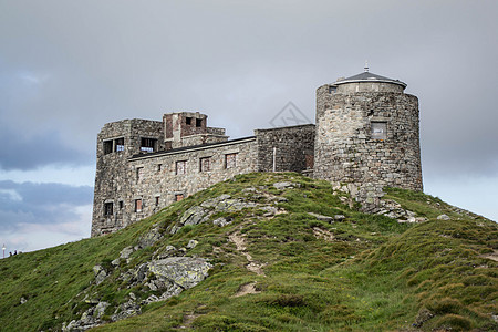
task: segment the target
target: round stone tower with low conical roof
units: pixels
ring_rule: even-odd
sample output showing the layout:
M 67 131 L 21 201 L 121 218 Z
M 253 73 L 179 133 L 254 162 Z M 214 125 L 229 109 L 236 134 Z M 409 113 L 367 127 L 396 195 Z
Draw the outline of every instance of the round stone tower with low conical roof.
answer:
M 422 190 L 418 100 L 365 72 L 317 90 L 314 177 L 346 185 L 365 210 L 385 186 Z

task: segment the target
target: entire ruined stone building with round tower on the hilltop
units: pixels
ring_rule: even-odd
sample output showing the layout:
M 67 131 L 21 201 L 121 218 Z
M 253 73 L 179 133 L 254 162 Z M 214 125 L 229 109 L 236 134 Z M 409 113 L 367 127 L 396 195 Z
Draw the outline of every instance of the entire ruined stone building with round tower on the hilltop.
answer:
M 317 91 L 317 125 L 228 139 L 198 112 L 105 124 L 97 136 L 92 236 L 250 172 L 299 172 L 341 185 L 365 210 L 384 186 L 422 190 L 418 101 L 397 80 L 364 73 Z

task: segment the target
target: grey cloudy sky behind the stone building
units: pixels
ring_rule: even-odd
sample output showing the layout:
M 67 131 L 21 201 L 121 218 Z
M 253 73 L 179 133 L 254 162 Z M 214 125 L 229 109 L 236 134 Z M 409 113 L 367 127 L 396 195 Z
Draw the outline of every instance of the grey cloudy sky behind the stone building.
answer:
M 425 191 L 498 220 L 498 1 L 0 0 L 0 242 L 90 236 L 104 123 L 200 111 L 231 138 L 363 71 L 419 98 Z

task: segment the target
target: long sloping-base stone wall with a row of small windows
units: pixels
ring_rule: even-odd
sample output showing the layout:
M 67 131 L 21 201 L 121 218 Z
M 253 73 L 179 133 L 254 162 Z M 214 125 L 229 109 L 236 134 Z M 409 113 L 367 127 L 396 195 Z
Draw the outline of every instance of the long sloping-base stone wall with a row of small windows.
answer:
M 237 154 L 234 168 L 227 168 L 226 154 Z M 210 158 L 209 170 L 201 170 L 200 158 Z M 177 174 L 177 162 L 185 162 L 185 174 Z M 113 230 L 157 212 L 174 203 L 176 195 L 187 197 L 235 175 L 256 172 L 256 165 L 255 137 L 134 157 L 127 167 L 131 185 L 123 197 L 123 222 Z M 135 211 L 137 199 L 141 211 Z

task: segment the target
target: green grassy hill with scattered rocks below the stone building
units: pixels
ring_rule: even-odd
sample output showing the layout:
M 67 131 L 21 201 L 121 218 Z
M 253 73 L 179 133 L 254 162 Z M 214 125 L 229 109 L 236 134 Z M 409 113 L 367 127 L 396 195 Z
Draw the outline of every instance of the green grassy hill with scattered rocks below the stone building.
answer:
M 0 330 L 90 317 L 96 331 L 496 331 L 497 224 L 386 193 L 396 218 L 326 181 L 242 175 L 116 234 L 0 260 Z M 151 263 L 184 259 L 208 277 L 185 287 Z

